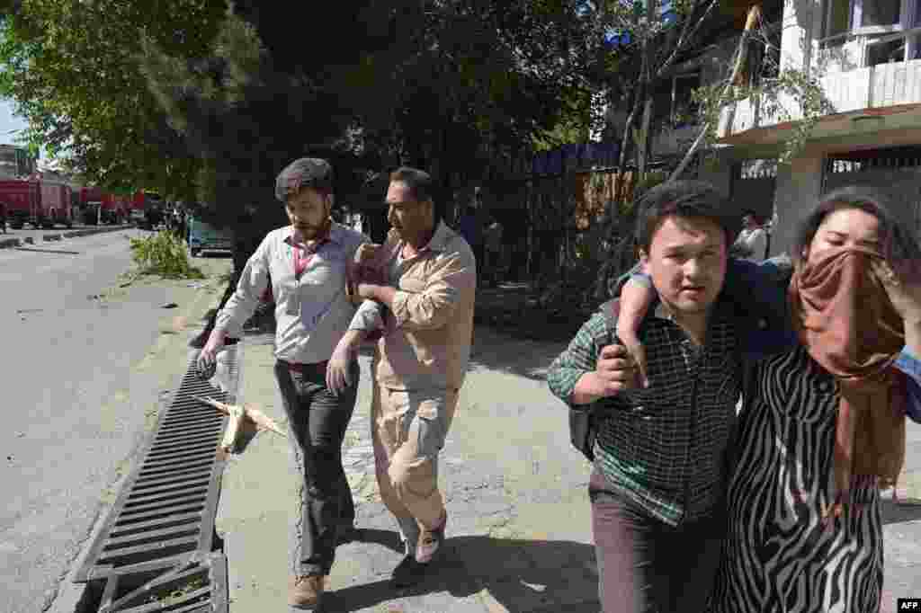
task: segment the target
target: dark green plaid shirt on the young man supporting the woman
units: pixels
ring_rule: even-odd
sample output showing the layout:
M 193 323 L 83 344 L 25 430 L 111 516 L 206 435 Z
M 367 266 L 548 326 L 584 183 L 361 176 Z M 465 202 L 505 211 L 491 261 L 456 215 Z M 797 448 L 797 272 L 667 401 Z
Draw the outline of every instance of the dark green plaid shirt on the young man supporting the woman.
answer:
M 661 521 L 707 515 L 723 496 L 726 452 L 741 390 L 741 364 L 728 310 L 717 303 L 704 347 L 659 307 L 639 330 L 649 387 L 597 400 L 595 464 L 613 491 Z M 613 331 L 599 312 L 551 364 L 547 383 L 571 402 L 579 377 L 595 370 Z

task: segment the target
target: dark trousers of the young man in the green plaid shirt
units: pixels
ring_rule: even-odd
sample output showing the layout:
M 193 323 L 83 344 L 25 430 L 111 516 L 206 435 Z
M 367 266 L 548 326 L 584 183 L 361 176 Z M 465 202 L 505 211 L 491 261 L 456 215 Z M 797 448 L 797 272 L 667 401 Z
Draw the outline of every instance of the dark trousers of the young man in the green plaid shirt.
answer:
M 674 527 L 612 492 L 595 469 L 589 480 L 591 524 L 604 613 L 702 613 L 713 590 L 726 534 L 725 515 Z M 719 506 L 722 510 L 722 505 Z M 632 551 L 632 561 L 624 561 Z M 624 566 L 632 565 L 633 573 Z M 638 602 L 624 606 L 624 577 Z M 631 608 L 632 607 L 632 608 Z

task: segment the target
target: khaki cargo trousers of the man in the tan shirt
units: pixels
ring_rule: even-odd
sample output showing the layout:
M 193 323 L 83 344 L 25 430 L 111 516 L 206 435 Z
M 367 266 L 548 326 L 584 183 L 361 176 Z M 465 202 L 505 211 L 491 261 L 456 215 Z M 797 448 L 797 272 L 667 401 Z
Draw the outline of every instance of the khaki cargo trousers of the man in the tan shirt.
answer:
M 411 542 L 415 526 L 407 525 L 437 528 L 445 511 L 438 452 L 457 402 L 456 389 L 388 389 L 374 382 L 371 437 L 380 498 Z

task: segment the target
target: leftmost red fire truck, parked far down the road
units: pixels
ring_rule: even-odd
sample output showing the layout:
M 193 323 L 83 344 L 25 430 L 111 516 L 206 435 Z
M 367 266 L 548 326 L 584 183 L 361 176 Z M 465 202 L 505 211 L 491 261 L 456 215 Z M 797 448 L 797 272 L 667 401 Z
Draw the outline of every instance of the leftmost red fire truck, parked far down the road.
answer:
M 45 180 L 0 180 L 0 201 L 6 205 L 9 226 L 21 229 L 74 226 L 71 189 L 64 183 Z

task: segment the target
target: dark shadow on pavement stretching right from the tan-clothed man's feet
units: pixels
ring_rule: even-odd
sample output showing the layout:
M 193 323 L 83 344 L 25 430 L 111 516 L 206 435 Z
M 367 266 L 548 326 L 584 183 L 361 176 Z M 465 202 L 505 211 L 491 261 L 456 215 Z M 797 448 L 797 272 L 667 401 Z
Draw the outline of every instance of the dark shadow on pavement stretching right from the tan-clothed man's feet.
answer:
M 386 541 L 380 544 L 397 548 L 396 532 L 367 532 L 379 534 L 367 535 L 366 543 Z M 448 592 L 462 598 L 484 591 L 512 613 L 599 610 L 594 548 L 583 543 L 454 537 L 446 541 L 441 561 L 434 563 L 437 568 L 426 580 L 409 589 L 396 590 L 386 579 L 331 592 L 327 610 L 356 611 L 394 597 Z

